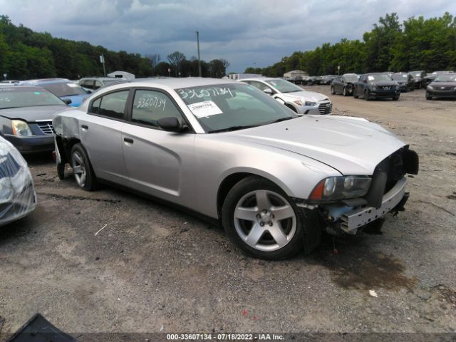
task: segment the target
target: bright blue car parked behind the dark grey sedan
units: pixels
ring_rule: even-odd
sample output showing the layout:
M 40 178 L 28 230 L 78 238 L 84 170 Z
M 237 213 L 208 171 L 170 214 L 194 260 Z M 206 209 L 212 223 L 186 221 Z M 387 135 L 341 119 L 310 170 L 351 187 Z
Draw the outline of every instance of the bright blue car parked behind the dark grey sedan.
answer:
M 88 98 L 88 92 L 86 90 L 66 78 L 21 81 L 19 85 L 43 87 L 61 98 L 68 105 L 71 105 L 71 107 L 79 107 Z

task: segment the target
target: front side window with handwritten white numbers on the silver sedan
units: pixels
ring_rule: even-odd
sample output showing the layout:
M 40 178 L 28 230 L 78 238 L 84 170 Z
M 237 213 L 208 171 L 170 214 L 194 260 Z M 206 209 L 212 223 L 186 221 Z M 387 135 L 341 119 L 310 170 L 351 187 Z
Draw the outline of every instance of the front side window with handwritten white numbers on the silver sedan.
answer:
M 158 119 L 170 117 L 177 118 L 181 125 L 184 122 L 168 95 L 155 90 L 136 90 L 131 113 L 131 120 L 134 123 L 158 127 Z

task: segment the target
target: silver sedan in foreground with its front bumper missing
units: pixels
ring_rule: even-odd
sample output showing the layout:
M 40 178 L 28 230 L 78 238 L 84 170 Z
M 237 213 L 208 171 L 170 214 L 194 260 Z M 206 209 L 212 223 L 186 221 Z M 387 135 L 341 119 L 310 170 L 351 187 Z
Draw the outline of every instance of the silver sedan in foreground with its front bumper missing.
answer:
M 379 125 L 298 116 L 234 81 L 112 86 L 53 125 L 60 177 L 70 162 L 85 190 L 109 182 L 192 209 L 266 259 L 403 209 L 405 173 L 418 172 L 416 153 Z

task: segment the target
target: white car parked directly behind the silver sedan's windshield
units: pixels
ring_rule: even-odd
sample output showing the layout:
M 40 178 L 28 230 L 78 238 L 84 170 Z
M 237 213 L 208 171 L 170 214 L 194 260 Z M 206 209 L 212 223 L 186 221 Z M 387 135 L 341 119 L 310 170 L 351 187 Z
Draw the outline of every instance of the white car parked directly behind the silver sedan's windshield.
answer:
M 298 114 L 331 114 L 333 104 L 326 95 L 307 91 L 280 78 L 247 78 L 239 80 L 264 91 Z

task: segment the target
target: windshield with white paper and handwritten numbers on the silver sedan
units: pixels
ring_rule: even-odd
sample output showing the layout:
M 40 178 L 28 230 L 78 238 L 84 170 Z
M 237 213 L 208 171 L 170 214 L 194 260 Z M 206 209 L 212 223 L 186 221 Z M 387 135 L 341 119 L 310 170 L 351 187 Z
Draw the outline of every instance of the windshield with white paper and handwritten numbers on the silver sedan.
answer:
M 247 84 L 182 88 L 176 92 L 207 133 L 297 118 L 289 108 Z

